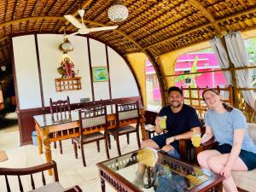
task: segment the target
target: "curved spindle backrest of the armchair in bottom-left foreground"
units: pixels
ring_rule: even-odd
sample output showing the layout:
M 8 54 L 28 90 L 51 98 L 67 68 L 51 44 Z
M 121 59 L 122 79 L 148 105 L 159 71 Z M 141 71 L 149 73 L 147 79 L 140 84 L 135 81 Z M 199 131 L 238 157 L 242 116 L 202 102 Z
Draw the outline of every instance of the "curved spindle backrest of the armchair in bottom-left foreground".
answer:
M 35 186 L 35 182 L 34 182 L 32 174 L 37 173 L 37 172 L 42 172 L 42 183 L 45 185 L 46 183 L 45 183 L 44 171 L 52 169 L 52 168 L 54 170 L 55 182 L 58 182 L 59 177 L 58 177 L 57 165 L 54 160 L 52 160 L 49 163 L 45 163 L 43 165 L 32 166 L 32 167 L 27 167 L 27 168 L 0 168 L 0 176 L 4 175 L 6 188 L 7 188 L 8 192 L 11 192 L 8 176 L 17 176 L 18 181 L 19 181 L 20 192 L 23 192 L 24 189 L 23 189 L 23 186 L 21 183 L 20 176 L 30 175 L 32 189 L 35 189 L 36 186 Z M 14 178 L 11 178 L 11 179 L 14 179 Z M 1 187 L 1 188 L 3 189 L 3 187 Z

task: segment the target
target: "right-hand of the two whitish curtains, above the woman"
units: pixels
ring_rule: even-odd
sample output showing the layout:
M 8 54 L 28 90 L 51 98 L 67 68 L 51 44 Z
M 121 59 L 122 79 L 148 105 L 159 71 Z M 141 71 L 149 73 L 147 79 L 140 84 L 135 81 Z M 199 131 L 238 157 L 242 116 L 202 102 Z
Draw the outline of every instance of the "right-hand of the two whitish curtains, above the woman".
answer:
M 249 67 L 249 57 L 246 47 L 241 37 L 241 32 L 229 32 L 225 36 L 225 42 L 230 55 L 230 60 L 235 67 Z M 241 88 L 250 87 L 252 82 L 252 70 L 236 70 L 236 79 L 238 86 Z M 254 108 L 254 94 L 252 90 L 241 91 L 242 97 L 247 104 Z

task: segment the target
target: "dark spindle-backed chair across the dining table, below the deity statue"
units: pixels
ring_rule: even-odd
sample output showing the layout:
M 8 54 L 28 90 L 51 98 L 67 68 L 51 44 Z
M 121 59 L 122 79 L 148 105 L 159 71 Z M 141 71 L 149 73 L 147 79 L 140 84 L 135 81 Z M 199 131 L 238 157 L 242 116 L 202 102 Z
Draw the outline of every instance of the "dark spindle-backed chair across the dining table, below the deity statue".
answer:
M 53 102 L 52 99 L 49 99 L 49 111 L 52 114 L 53 121 L 63 121 L 71 119 L 71 106 L 69 102 L 69 97 L 67 96 L 67 100 L 58 100 Z M 55 132 L 55 137 L 61 134 L 61 132 Z M 62 154 L 62 144 L 59 141 L 60 152 Z M 56 148 L 56 143 L 54 142 L 54 148 Z

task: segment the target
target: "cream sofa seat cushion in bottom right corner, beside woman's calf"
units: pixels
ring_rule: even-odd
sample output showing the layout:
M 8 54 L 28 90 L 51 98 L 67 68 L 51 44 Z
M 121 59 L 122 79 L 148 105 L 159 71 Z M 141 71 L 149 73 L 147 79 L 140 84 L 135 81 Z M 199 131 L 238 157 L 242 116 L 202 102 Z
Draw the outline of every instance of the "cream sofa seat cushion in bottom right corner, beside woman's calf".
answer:
M 256 192 L 256 169 L 248 172 L 232 172 L 236 186 L 249 192 Z

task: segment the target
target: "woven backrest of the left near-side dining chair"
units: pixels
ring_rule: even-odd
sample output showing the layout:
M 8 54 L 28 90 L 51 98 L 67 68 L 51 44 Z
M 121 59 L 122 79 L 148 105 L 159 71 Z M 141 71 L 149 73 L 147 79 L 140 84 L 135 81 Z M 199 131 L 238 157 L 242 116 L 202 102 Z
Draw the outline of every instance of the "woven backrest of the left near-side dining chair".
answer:
M 80 135 L 86 135 L 96 131 L 105 131 L 108 128 L 106 106 L 81 108 L 79 110 Z

